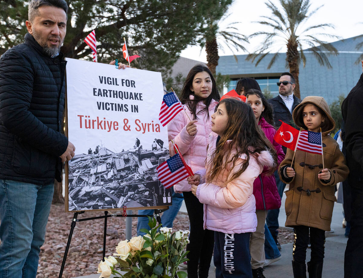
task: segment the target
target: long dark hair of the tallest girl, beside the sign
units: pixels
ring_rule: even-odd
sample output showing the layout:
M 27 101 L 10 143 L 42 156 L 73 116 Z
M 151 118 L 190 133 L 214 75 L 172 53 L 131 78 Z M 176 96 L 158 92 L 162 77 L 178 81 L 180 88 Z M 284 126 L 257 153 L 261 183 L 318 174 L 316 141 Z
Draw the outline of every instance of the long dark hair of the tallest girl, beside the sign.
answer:
M 197 73 L 203 72 L 203 71 L 207 72 L 209 74 L 209 76 L 211 77 L 211 80 L 212 80 L 212 92 L 206 99 L 203 99 L 203 98 L 201 98 L 199 96 L 196 96 L 194 94 L 194 92 L 192 92 L 190 90 L 190 87 L 192 87 L 192 85 L 193 85 L 194 76 Z M 189 98 L 190 95 L 193 95 L 194 99 L 191 100 Z M 208 112 L 209 104 L 211 104 L 212 99 L 214 99 L 216 101 L 219 101 L 220 98 L 221 97 L 220 97 L 220 95 L 218 93 L 217 86 L 216 86 L 216 80 L 214 79 L 213 74 L 208 69 L 208 67 L 206 67 L 204 65 L 201 65 L 201 64 L 198 64 L 198 65 L 195 65 L 194 67 L 192 67 L 192 69 L 189 71 L 189 73 L 187 75 L 187 78 L 185 79 L 184 86 L 181 89 L 180 102 L 183 103 L 183 104 L 187 104 L 189 110 L 191 111 L 191 113 L 193 115 L 193 120 L 198 119 L 197 115 L 196 115 L 196 110 L 197 110 L 197 104 L 198 104 L 199 101 L 205 100 L 205 106 L 206 107 L 204 109 L 202 109 L 201 111 L 199 111 L 198 114 L 203 114 L 204 112 L 207 112 L 206 113 L 207 119 L 209 119 L 209 112 Z

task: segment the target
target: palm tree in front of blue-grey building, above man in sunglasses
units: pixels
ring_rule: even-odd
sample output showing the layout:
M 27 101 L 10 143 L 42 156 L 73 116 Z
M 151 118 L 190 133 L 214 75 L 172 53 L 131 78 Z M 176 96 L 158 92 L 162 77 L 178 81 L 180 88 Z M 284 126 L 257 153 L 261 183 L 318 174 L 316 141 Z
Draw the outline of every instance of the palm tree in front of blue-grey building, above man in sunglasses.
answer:
M 274 47 L 274 49 L 276 49 L 276 46 L 280 43 L 280 49 L 273 55 L 267 67 L 270 69 L 279 56 L 279 51 L 286 46 L 286 66 L 289 66 L 290 73 L 295 77 L 296 87 L 294 94 L 297 97 L 300 97 L 299 65 L 301 61 L 303 62 L 304 67 L 306 64 L 306 57 L 302 48 L 303 46 L 309 46 L 309 51 L 313 52 L 319 64 L 331 68 L 327 54 L 338 55 L 338 50 L 330 43 L 320 40 L 316 34 L 311 31 L 327 27 L 333 28 L 334 26 L 323 23 L 304 28 L 303 25 L 305 22 L 322 7 L 320 6 L 312 12 L 309 12 L 311 5 L 310 0 L 279 0 L 279 2 L 282 6 L 281 12 L 270 0 L 266 2 L 267 7 L 272 11 L 272 16 L 262 16 L 264 19 L 258 21 L 258 23 L 267 26 L 268 28 L 272 28 L 272 30 L 256 32 L 250 36 L 255 37 L 263 35 L 265 36 L 265 39 L 258 49 L 254 53 L 249 54 L 246 59 L 252 60 L 252 62 L 257 59 L 257 66 L 258 63 L 272 51 L 272 48 Z M 339 39 L 339 37 L 327 33 L 319 33 L 318 36 Z

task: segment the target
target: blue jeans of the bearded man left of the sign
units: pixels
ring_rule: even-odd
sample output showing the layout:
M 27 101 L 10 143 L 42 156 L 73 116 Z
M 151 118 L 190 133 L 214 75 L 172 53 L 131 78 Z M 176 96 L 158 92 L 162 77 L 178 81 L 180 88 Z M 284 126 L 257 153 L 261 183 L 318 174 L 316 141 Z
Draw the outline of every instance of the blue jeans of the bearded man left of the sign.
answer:
M 35 278 L 54 186 L 0 179 L 0 277 Z

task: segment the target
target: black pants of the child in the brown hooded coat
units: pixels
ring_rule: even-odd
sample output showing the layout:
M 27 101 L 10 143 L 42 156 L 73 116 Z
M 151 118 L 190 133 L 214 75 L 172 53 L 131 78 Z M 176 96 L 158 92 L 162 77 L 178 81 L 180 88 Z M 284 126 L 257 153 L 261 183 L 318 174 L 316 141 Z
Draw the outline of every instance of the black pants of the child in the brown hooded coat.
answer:
M 321 264 L 324 261 L 325 231 L 307 226 L 295 226 L 294 228 L 293 261 L 305 264 L 310 229 L 310 262 L 312 264 Z

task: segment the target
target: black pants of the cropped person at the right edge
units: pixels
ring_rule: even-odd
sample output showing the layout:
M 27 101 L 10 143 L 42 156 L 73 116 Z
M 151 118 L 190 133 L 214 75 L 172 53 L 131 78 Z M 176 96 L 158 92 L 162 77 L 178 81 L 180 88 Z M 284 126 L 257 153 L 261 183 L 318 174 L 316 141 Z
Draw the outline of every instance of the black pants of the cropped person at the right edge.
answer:
M 350 184 L 349 184 L 350 185 Z M 352 217 L 344 256 L 344 277 L 363 277 L 363 189 L 352 187 Z

